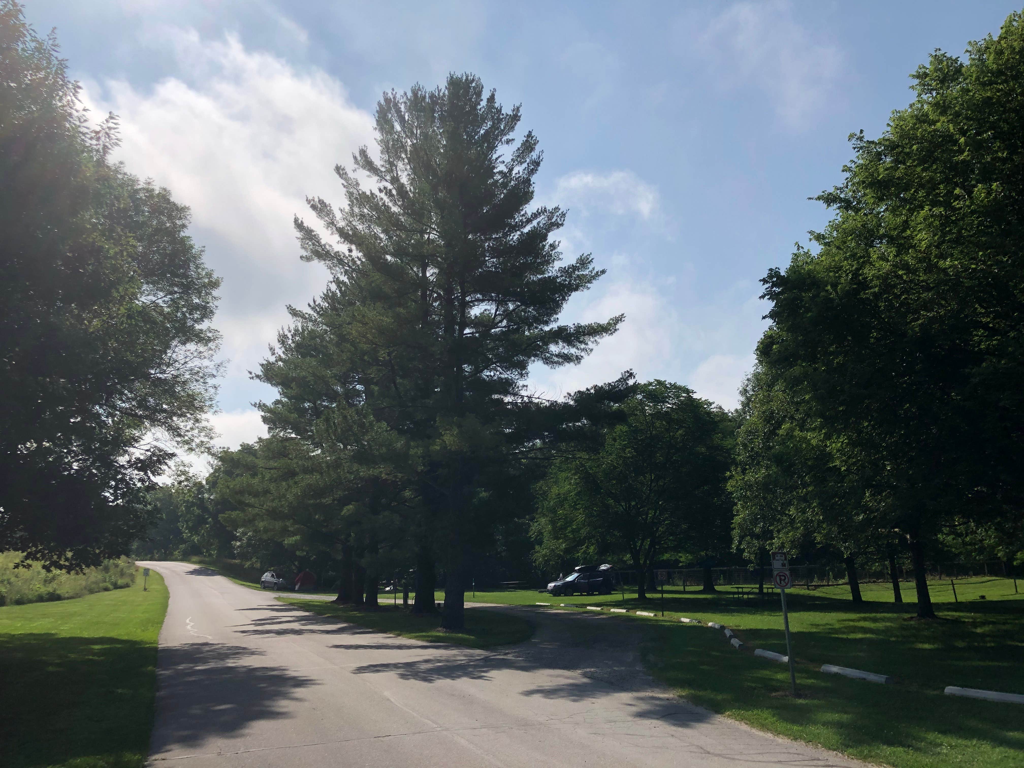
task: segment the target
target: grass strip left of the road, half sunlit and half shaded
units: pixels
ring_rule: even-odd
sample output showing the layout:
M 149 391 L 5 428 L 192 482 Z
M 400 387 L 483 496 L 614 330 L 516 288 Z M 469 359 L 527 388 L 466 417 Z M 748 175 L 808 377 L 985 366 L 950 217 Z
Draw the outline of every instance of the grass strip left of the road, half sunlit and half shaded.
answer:
M 167 587 L 0 608 L 0 763 L 129 768 L 150 749 Z

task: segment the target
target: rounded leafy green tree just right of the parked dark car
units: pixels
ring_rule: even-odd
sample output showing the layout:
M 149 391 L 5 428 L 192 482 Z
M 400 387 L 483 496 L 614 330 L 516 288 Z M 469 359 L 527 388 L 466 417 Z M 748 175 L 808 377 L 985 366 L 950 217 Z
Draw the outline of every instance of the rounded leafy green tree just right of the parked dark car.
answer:
M 659 557 L 728 547 L 731 422 L 687 387 L 659 380 L 638 385 L 615 411 L 541 484 L 538 557 L 628 558 L 644 599 Z

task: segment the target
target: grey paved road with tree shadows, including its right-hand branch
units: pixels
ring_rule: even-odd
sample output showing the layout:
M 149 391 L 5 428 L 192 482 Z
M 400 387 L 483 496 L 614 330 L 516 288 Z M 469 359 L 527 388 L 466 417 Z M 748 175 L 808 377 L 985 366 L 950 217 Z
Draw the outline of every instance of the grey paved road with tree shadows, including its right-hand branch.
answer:
M 532 611 L 532 640 L 481 651 L 321 618 L 191 564 L 140 564 L 171 593 L 153 766 L 860 765 L 682 701 L 611 616 Z

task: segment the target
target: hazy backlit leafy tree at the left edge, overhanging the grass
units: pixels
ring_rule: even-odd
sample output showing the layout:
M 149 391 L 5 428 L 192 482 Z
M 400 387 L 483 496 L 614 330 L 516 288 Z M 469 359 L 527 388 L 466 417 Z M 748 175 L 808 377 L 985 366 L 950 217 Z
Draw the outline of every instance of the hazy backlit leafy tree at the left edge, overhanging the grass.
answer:
M 187 209 L 109 162 L 116 127 L 0 0 L 0 550 L 46 567 L 128 551 L 217 373 L 219 282 Z

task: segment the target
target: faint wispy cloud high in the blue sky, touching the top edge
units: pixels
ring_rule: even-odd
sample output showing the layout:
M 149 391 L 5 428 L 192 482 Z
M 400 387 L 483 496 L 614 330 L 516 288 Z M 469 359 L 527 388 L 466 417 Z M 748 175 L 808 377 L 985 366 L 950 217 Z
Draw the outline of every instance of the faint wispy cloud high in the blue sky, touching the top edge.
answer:
M 838 47 L 815 40 L 783 0 L 729 5 L 697 36 L 696 52 L 723 87 L 764 91 L 778 119 L 795 130 L 806 128 L 831 98 L 844 58 Z

